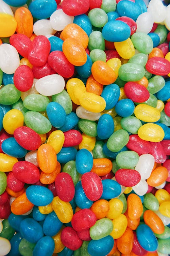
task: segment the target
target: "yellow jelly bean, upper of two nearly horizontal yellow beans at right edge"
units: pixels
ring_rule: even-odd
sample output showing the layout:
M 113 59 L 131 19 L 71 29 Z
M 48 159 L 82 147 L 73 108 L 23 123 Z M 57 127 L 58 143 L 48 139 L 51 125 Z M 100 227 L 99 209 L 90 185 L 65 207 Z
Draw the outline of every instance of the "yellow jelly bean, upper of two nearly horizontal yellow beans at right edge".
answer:
M 134 114 L 138 119 L 144 122 L 154 123 L 160 119 L 160 112 L 158 109 L 142 103 L 135 107 Z

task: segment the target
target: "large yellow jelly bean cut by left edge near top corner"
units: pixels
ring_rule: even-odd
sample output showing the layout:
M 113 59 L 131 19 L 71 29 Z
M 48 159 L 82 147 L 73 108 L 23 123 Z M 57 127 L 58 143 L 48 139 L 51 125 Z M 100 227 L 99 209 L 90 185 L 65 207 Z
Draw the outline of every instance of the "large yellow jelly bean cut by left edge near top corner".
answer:
M 17 21 L 12 15 L 0 13 L 0 37 L 11 37 L 16 28 Z

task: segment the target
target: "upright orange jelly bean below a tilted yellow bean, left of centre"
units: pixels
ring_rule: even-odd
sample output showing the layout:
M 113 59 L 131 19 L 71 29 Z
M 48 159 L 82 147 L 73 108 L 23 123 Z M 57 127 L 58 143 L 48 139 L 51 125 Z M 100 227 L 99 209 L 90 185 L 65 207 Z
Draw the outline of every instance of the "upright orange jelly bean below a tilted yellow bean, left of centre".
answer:
M 51 173 L 56 170 L 57 156 L 50 144 L 42 144 L 37 150 L 37 161 L 41 171 Z

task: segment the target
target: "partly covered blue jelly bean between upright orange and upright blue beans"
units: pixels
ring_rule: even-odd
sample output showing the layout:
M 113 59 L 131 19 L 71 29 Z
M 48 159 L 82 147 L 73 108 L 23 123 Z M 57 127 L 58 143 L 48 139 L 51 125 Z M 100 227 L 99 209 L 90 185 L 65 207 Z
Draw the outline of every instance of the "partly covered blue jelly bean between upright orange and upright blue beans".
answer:
M 68 161 L 75 160 L 77 150 L 75 147 L 62 147 L 61 151 L 57 154 L 57 160 L 60 163 L 67 163 Z

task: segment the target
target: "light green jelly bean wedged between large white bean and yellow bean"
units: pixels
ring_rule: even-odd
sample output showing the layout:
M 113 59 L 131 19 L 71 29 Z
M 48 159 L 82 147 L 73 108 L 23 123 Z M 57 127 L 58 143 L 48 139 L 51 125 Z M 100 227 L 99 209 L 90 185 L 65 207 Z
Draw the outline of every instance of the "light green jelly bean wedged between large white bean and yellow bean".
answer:
M 66 115 L 71 113 L 72 101 L 66 90 L 61 91 L 61 93 L 52 95 L 52 101 L 59 103 L 66 111 Z

